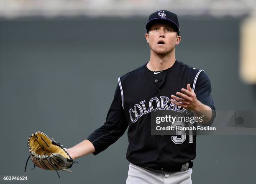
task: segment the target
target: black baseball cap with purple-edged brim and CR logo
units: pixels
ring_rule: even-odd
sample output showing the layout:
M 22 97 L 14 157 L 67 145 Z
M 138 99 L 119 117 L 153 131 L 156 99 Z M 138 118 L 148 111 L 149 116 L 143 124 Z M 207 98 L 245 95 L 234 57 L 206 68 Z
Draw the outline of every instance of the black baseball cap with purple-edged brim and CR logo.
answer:
M 167 10 L 159 10 L 148 17 L 148 23 L 146 24 L 146 30 L 149 31 L 150 27 L 156 22 L 169 22 L 175 30 L 177 30 L 179 35 L 179 21 L 178 16 Z

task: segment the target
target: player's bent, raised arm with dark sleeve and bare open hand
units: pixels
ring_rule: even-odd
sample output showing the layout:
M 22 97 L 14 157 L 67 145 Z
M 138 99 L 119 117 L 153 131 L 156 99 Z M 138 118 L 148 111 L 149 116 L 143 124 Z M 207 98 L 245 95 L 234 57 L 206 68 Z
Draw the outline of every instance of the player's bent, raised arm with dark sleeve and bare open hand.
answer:
M 211 83 L 205 72 L 200 74 L 195 91 L 192 90 L 190 84 L 187 89 L 182 88 L 182 92 L 177 92 L 177 96 L 172 95 L 171 102 L 185 109 L 192 110 L 196 117 L 203 116 L 203 122 L 200 124 L 211 125 L 215 116 L 215 106 L 211 96 Z M 175 100 L 176 101 L 175 101 Z

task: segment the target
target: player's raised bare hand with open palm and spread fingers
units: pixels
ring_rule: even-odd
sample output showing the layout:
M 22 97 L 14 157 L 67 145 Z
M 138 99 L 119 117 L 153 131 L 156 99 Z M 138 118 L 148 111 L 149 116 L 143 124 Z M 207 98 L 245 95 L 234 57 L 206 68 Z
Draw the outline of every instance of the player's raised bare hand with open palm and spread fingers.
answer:
M 199 110 L 202 103 L 197 99 L 197 96 L 191 89 L 190 84 L 187 84 L 187 90 L 182 88 L 181 91 L 182 93 L 176 93 L 178 97 L 173 94 L 171 95 L 171 102 L 187 110 Z

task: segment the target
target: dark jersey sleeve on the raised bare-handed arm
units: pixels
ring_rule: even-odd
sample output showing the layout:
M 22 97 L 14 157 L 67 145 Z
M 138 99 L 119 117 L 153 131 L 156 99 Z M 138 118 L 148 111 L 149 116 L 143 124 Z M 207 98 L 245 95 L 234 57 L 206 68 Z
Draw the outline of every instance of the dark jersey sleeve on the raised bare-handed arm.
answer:
M 215 105 L 211 95 L 212 85 L 209 77 L 204 71 L 202 71 L 197 78 L 194 92 L 197 95 L 197 99 L 201 103 L 209 106 L 212 109 L 212 118 L 210 122 L 207 124 L 207 125 L 211 125 L 213 123 L 213 120 L 216 117 L 216 111 L 215 111 Z

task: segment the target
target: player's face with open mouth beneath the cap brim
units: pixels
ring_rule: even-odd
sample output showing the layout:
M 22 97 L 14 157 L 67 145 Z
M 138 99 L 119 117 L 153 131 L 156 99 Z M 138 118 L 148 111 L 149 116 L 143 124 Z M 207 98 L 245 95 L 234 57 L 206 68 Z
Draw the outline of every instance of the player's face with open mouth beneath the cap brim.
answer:
M 145 36 L 151 51 L 158 55 L 166 55 L 172 52 L 181 39 L 168 23 L 153 24 Z

